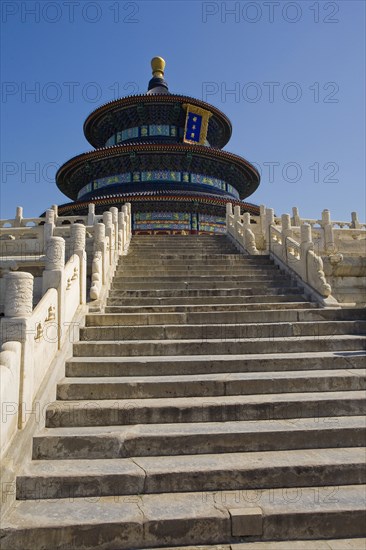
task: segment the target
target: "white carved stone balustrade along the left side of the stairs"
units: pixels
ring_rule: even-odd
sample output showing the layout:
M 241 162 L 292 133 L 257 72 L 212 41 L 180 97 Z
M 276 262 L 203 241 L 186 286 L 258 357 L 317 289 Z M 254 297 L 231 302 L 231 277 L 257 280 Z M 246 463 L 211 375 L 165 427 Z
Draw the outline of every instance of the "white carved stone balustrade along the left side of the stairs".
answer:
M 87 311 L 86 234 L 90 235 L 93 247 L 89 273 L 92 300 L 106 295 L 118 259 L 127 253 L 131 239 L 130 205 L 124 205 L 122 212 L 111 208 L 92 219 L 90 214 L 93 208 L 89 209 L 89 217 L 79 217 L 78 223 L 75 219 L 69 224 L 66 239 L 54 235 L 54 210 L 47 211 L 42 227 L 42 293 L 35 308 L 33 275 L 10 270 L 4 274 L 4 316 L 0 326 L 1 456 L 17 429 L 25 427 L 56 354 L 64 344 L 74 340 L 77 314 Z M 80 221 L 92 221 L 93 225 L 85 226 Z

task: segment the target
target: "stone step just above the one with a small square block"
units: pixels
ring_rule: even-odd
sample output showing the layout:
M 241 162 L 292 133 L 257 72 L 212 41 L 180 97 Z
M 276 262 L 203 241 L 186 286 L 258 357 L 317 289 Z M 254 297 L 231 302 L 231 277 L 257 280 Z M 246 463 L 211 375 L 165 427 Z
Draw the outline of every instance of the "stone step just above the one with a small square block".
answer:
M 365 448 L 301 449 L 107 460 L 33 461 L 17 477 L 17 499 L 366 483 Z

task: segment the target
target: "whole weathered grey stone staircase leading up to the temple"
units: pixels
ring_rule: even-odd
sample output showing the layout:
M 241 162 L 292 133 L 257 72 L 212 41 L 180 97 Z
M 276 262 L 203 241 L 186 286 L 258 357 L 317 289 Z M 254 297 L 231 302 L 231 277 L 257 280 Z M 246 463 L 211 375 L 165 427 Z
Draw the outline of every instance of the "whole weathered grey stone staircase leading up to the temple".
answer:
M 365 310 L 318 308 L 224 236 L 133 237 L 2 548 L 365 536 L 365 333 Z

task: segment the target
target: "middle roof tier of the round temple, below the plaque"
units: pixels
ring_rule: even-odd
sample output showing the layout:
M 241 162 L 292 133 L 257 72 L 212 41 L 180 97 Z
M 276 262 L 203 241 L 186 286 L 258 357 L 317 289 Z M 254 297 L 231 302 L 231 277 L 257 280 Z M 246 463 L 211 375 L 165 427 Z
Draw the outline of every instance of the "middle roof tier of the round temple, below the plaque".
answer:
M 72 158 L 58 170 L 56 181 L 66 196 L 76 200 L 84 192 L 89 193 L 87 186 L 95 181 L 164 170 L 223 181 L 228 189 L 234 189 L 228 192 L 240 199 L 251 195 L 260 180 L 253 165 L 227 151 L 189 144 L 124 143 Z

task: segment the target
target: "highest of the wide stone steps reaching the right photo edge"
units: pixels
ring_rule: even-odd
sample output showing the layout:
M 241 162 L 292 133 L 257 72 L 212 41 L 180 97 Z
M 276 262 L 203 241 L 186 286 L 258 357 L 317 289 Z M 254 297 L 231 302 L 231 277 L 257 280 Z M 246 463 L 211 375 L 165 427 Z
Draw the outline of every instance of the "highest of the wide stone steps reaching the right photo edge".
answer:
M 184 325 L 225 324 L 298 321 L 350 321 L 364 320 L 364 311 L 359 309 L 293 309 L 253 311 L 205 311 L 187 313 L 98 313 L 85 317 L 87 327 L 125 325 Z

